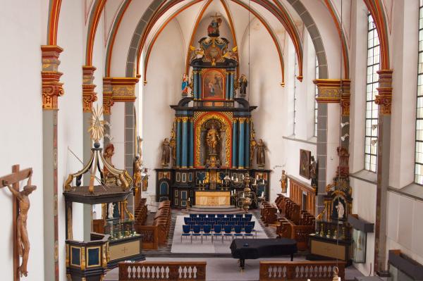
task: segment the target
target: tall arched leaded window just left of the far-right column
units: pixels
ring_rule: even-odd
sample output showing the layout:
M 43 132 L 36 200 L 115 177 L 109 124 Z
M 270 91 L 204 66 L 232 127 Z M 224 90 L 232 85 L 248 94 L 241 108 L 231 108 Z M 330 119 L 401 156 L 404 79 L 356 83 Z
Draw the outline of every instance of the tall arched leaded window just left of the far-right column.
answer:
M 366 123 L 364 134 L 364 169 L 377 170 L 377 124 L 379 106 L 374 102 L 379 87 L 379 37 L 372 15 L 367 15 L 367 87 L 366 87 Z

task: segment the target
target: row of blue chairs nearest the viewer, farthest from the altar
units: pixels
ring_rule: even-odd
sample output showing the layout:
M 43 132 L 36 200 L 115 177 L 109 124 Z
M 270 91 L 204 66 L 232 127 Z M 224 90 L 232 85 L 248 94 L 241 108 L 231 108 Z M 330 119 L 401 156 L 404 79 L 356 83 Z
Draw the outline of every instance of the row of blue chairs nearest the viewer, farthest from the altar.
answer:
M 201 237 L 201 244 L 203 242 L 203 237 L 212 237 L 212 243 L 214 238 L 221 237 L 222 243 L 223 238 L 231 237 L 234 239 L 235 237 L 252 237 L 254 238 L 254 235 L 252 234 L 253 229 L 252 225 L 245 225 L 244 227 L 242 225 L 194 225 L 194 227 L 191 229 L 191 225 L 182 225 L 182 235 L 180 235 L 180 242 L 182 243 L 182 237 L 191 237 L 191 243 L 192 243 L 192 237 Z M 213 232 L 212 232 L 213 230 Z M 256 233 L 257 235 L 257 233 Z

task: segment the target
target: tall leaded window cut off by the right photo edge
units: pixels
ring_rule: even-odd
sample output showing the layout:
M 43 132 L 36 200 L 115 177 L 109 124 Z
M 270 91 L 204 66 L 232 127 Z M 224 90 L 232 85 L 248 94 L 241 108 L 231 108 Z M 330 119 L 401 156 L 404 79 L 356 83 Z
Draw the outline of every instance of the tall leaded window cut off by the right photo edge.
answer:
M 415 183 L 423 185 L 423 0 L 419 1 Z

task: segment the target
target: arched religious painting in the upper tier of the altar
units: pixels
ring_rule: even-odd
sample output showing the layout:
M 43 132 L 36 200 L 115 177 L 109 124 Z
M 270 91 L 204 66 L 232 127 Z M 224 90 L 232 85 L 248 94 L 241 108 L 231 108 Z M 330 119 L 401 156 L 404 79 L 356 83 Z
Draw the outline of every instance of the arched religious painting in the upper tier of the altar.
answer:
M 225 70 L 210 68 L 202 73 L 202 99 L 225 99 Z

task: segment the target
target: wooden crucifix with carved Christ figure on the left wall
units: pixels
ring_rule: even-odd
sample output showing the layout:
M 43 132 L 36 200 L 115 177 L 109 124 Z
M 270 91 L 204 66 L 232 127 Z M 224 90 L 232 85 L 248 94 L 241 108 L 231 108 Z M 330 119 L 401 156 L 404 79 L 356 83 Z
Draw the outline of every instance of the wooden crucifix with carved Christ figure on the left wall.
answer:
M 19 169 L 12 166 L 12 173 L 0 177 L 0 188 L 8 187 L 13 194 L 13 281 L 27 276 L 27 262 L 30 254 L 30 241 L 27 233 L 27 214 L 30 209 L 29 195 L 37 189 L 31 185 L 32 168 Z M 19 190 L 19 182 L 28 179 L 23 190 Z M 20 257 L 22 263 L 20 264 Z

